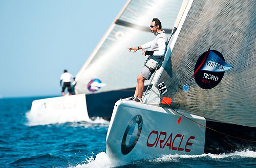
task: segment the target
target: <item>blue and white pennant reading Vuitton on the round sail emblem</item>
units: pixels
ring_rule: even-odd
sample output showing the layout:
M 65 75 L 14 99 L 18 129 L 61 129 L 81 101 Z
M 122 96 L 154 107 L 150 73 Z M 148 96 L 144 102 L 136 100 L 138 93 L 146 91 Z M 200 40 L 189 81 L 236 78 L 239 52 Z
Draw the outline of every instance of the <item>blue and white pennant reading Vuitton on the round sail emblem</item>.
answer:
M 210 51 L 208 57 L 201 70 L 212 72 L 224 72 L 231 69 L 232 66 L 228 65 L 222 58 L 216 53 Z

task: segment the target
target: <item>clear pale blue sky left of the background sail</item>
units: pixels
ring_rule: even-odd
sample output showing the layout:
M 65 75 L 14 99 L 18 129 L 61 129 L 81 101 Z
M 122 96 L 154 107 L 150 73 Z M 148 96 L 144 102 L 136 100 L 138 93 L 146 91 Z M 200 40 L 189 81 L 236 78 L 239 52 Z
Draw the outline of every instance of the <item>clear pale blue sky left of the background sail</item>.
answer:
M 0 98 L 61 95 L 126 0 L 1 0 Z

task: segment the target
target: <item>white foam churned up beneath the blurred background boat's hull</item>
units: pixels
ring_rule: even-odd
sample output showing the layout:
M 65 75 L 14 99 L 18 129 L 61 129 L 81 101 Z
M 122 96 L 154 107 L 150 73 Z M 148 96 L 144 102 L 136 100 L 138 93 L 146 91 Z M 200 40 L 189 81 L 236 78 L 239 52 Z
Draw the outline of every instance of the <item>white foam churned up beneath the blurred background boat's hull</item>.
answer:
M 28 126 L 38 126 L 38 125 L 49 125 L 49 124 L 62 124 L 67 122 L 72 122 L 73 126 L 81 126 L 90 127 L 93 124 L 98 124 L 102 126 L 108 126 L 109 122 L 105 121 L 103 118 L 97 117 L 95 119 L 90 119 L 87 116 L 81 114 L 72 115 L 72 111 L 70 113 L 56 113 L 52 111 L 28 111 L 26 113 Z M 79 125 L 76 125 L 77 122 L 83 122 Z

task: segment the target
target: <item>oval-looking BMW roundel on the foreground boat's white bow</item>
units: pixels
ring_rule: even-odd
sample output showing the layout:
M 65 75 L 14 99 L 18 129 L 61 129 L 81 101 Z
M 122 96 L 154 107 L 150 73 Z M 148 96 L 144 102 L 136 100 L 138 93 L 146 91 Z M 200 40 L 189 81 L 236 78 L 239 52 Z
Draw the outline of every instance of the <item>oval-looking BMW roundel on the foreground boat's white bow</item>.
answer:
M 123 134 L 121 152 L 124 155 L 129 154 L 135 147 L 142 129 L 142 116 L 136 115 L 133 117 Z

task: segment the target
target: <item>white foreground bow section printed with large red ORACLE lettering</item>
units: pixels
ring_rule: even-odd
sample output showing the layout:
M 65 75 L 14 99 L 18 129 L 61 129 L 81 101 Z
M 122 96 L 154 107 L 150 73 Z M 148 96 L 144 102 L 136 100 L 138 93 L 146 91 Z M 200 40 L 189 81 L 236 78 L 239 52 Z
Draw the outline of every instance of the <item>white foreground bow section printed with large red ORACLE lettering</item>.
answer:
M 181 113 L 205 126 L 205 118 Z M 120 161 L 203 154 L 203 126 L 170 109 L 120 100 L 111 117 L 106 153 Z

